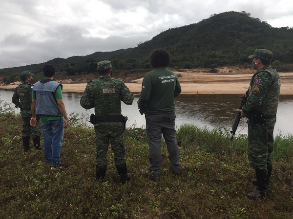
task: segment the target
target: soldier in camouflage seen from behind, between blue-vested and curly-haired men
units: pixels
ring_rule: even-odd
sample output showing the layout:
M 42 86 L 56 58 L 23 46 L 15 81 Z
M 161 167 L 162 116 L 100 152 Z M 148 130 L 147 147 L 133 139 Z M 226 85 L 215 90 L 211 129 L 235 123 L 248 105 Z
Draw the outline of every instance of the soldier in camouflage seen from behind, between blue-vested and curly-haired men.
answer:
M 134 97 L 122 80 L 112 78 L 110 61 L 101 61 L 97 65 L 100 77 L 88 82 L 80 100 L 84 109 L 95 108 L 96 175 L 92 180 L 104 179 L 108 164 L 107 151 L 111 144 L 120 182 L 126 183 L 130 180 L 130 174 L 125 158 L 125 123 L 121 114 L 121 100 L 131 105 Z

